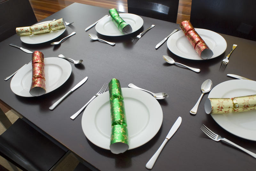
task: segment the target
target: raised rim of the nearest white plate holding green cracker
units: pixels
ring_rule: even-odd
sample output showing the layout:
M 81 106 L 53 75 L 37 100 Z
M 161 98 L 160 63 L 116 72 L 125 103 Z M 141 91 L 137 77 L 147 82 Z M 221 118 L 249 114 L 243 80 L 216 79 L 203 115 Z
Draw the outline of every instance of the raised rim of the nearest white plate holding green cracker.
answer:
M 127 91 L 127 92 L 126 92 Z M 155 115 L 157 115 L 157 117 L 158 117 L 158 119 L 159 120 L 161 120 L 161 122 L 159 121 L 159 123 L 154 123 L 154 122 L 152 122 L 152 123 L 154 123 L 155 125 L 156 124 L 158 124 L 157 126 L 158 126 L 158 128 L 157 127 L 154 127 L 154 128 L 156 128 L 155 129 L 155 132 L 152 134 L 152 135 L 150 135 L 150 136 L 148 136 L 148 139 L 147 140 L 145 140 L 143 143 L 140 143 L 140 144 L 137 144 L 137 145 L 133 145 L 133 146 L 131 146 L 131 144 L 129 144 L 129 149 L 128 150 L 131 150 L 131 149 L 134 149 L 134 148 L 137 148 L 137 147 L 140 147 L 140 146 L 142 146 L 142 145 L 144 145 L 144 144 L 146 144 L 148 141 L 150 141 L 154 136 L 156 136 L 156 134 L 158 133 L 158 131 L 159 131 L 159 129 L 161 128 L 161 126 L 162 126 L 162 123 L 163 123 L 163 110 L 162 110 L 162 107 L 161 107 L 161 105 L 159 104 L 159 102 L 153 97 L 153 96 L 151 96 L 151 95 L 149 95 L 147 92 L 144 92 L 144 91 L 142 91 L 142 90 L 138 90 L 138 89 L 132 89 L 132 88 L 122 88 L 122 92 L 123 92 L 123 94 L 128 94 L 128 93 L 131 93 L 131 91 L 134 91 L 133 93 L 134 94 L 137 94 L 138 92 L 140 93 L 140 94 L 143 94 L 143 98 L 145 99 L 145 98 L 151 98 L 150 100 L 152 101 L 154 101 L 154 103 L 156 103 L 156 105 L 157 105 L 157 107 L 158 107 L 158 109 L 157 110 L 159 110 L 159 112 L 161 112 L 160 114 L 159 114 L 159 112 L 157 113 L 157 114 L 155 114 Z M 125 93 L 124 93 L 125 92 Z M 109 95 L 108 95 L 108 91 L 106 91 L 105 93 L 103 93 L 103 94 L 105 94 L 105 96 L 107 96 L 107 97 L 109 97 Z M 102 94 L 102 95 L 103 95 Z M 100 97 L 100 96 L 99 96 Z M 101 96 L 102 97 L 102 96 Z M 129 97 L 129 96 L 128 96 Z M 102 98 L 104 98 L 104 97 L 102 97 Z M 105 97 L 106 98 L 106 97 Z M 105 99 L 104 98 L 104 99 Z M 124 98 L 125 98 L 125 95 L 124 95 Z M 133 96 L 133 98 L 136 98 L 136 97 L 134 97 Z M 96 99 L 96 98 L 95 98 Z M 138 98 L 136 98 L 136 99 L 138 99 Z M 98 100 L 97 101 L 95 101 L 95 100 L 93 100 L 92 102 L 93 103 L 98 103 L 98 101 L 100 101 L 100 99 L 98 98 Z M 93 107 L 94 105 L 92 104 L 92 102 L 85 108 L 85 110 L 84 110 L 84 113 L 83 113 L 83 116 L 82 116 L 82 120 L 81 120 L 81 125 L 82 125 L 82 130 L 83 130 L 83 133 L 84 133 L 84 135 L 86 136 L 86 131 L 87 131 L 87 127 L 88 127 L 88 125 L 86 124 L 86 121 L 88 122 L 88 121 L 90 121 L 90 120 L 88 120 L 88 117 L 86 116 L 86 110 L 89 110 L 90 109 L 90 107 Z M 102 102 L 103 103 L 103 102 Z M 102 104 L 102 105 L 104 105 L 104 104 Z M 146 105 L 146 104 L 144 104 L 144 105 Z M 155 107 L 156 108 L 156 107 Z M 93 113 L 93 115 L 92 115 L 92 112 L 90 113 L 90 114 L 88 114 L 88 116 L 89 117 L 91 117 L 91 120 L 95 120 L 95 116 L 96 116 L 96 114 L 97 114 L 97 111 L 98 110 L 95 110 L 95 112 Z M 110 113 L 110 112 L 109 112 Z M 126 113 L 127 114 L 127 113 Z M 151 118 L 151 120 L 153 119 L 152 117 L 150 117 Z M 109 120 L 110 120 L 110 117 L 109 117 Z M 93 124 L 93 126 L 96 128 L 96 126 L 95 126 L 95 124 Z M 90 127 L 91 128 L 91 127 Z M 97 129 L 97 128 L 96 128 Z M 149 128 L 148 128 L 149 129 Z M 110 130 L 110 129 L 109 129 Z M 129 130 L 129 125 L 128 125 L 128 130 Z M 92 128 L 90 129 L 90 131 L 92 131 Z M 97 132 L 99 132 L 99 131 L 97 131 Z M 129 133 L 128 133 L 129 134 Z M 99 134 L 100 135 L 100 134 Z M 93 136 L 94 137 L 94 136 Z M 101 137 L 103 137 L 103 135 L 101 136 Z M 136 136 L 136 137 L 138 137 L 138 136 Z M 94 144 L 94 145 L 96 145 L 96 146 L 98 146 L 98 147 L 100 147 L 100 148 L 103 148 L 103 149 L 106 149 L 106 150 L 110 150 L 109 149 L 109 145 L 110 144 L 104 144 L 104 145 L 100 145 L 100 144 L 97 144 L 97 142 L 95 142 L 96 140 L 93 140 L 92 139 L 92 136 L 86 136 L 86 138 L 92 143 L 92 144 Z M 105 137 L 105 139 L 106 139 L 107 137 Z M 110 142 L 110 139 L 109 139 L 109 142 Z M 129 140 L 129 142 L 130 142 L 130 140 Z

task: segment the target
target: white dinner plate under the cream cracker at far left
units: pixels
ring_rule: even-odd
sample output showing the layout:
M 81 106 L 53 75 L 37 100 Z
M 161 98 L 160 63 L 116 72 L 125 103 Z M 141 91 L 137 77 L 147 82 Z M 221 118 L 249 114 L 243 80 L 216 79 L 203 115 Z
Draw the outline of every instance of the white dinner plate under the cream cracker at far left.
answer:
M 51 21 L 44 21 L 37 23 L 38 24 L 43 24 L 43 23 L 49 23 Z M 65 25 L 65 21 L 63 22 Z M 48 42 L 52 39 L 55 39 L 56 37 L 59 37 L 64 31 L 66 30 L 65 28 L 62 28 L 60 30 L 52 31 L 49 33 L 43 33 L 43 34 L 38 34 L 38 35 L 26 35 L 26 36 L 20 36 L 21 42 L 28 43 L 28 44 L 38 44 L 38 43 L 44 43 Z

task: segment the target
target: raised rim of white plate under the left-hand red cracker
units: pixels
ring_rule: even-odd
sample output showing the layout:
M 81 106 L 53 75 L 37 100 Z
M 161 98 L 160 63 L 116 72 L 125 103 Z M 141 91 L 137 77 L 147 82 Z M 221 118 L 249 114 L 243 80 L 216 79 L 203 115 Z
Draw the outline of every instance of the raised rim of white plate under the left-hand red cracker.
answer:
M 65 63 L 66 65 L 66 67 L 65 67 L 65 70 L 68 72 L 68 74 L 67 74 L 67 77 L 66 77 L 66 79 L 58 86 L 58 87 L 56 87 L 55 89 L 58 89 L 61 85 L 63 85 L 67 80 L 68 80 L 68 78 L 70 77 L 70 75 L 71 75 L 71 73 L 72 73 L 72 67 L 71 67 L 71 64 L 67 61 L 67 60 L 65 60 L 65 59 L 62 59 L 62 58 L 57 58 L 57 57 L 48 57 L 48 58 L 44 58 L 44 60 L 46 59 L 46 61 L 47 62 L 50 62 L 50 64 L 55 64 L 55 65 L 58 65 L 59 63 L 55 63 L 55 62 L 52 62 L 52 60 L 54 60 L 54 61 L 56 61 L 56 60 L 59 60 L 59 61 L 62 61 L 63 63 Z M 50 61 L 49 61 L 50 60 Z M 62 63 L 62 64 L 63 64 Z M 30 63 L 29 63 L 30 64 Z M 28 65 L 29 65 L 28 64 Z M 30 67 L 32 68 L 32 65 L 26 65 L 26 66 L 23 66 L 16 74 L 17 75 L 19 75 L 21 72 L 23 72 L 23 73 L 25 73 L 25 71 L 27 71 L 27 70 L 30 70 Z M 60 65 L 59 65 L 60 66 Z M 67 67 L 68 66 L 68 67 Z M 28 68 L 29 67 L 29 68 Z M 61 67 L 61 66 L 60 66 Z M 61 67 L 61 68 L 63 68 L 63 67 Z M 16 75 L 15 74 L 15 75 Z M 12 84 L 14 84 L 13 82 L 15 81 L 15 79 L 16 79 L 16 77 L 17 76 L 13 76 L 12 77 L 12 80 L 11 80 L 11 82 L 10 82 L 10 88 L 11 88 L 11 90 L 12 90 L 12 92 L 14 93 L 14 94 L 16 94 L 16 95 L 18 95 L 18 96 L 21 96 L 21 97 L 37 97 L 37 96 L 32 96 L 29 92 L 28 92 L 28 94 L 26 94 L 26 95 L 22 95 L 22 94 L 20 94 L 20 93 L 17 93 L 15 90 L 13 91 L 13 87 L 12 87 Z M 24 75 L 24 74 L 23 74 Z M 21 77 L 20 77 L 21 78 Z M 22 79 L 17 79 L 17 81 L 21 81 Z M 31 80 L 31 82 L 32 82 L 32 80 Z M 47 93 L 50 93 L 50 92 L 52 92 L 52 91 L 54 91 L 55 89 L 52 89 L 51 91 L 46 91 L 46 93 L 45 94 L 47 94 Z M 44 94 L 43 94 L 44 95 Z M 43 96 L 43 95 L 41 95 L 41 96 Z

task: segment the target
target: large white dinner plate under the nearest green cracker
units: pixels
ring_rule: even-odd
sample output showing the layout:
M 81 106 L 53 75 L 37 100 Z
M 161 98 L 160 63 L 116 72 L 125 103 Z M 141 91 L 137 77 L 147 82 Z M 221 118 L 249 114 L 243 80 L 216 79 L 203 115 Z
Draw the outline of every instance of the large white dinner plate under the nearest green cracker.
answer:
M 122 88 L 129 136 L 129 149 L 147 143 L 160 129 L 163 111 L 158 101 L 148 93 Z M 109 92 L 96 97 L 84 110 L 82 128 L 85 136 L 95 145 L 109 150 L 110 102 Z

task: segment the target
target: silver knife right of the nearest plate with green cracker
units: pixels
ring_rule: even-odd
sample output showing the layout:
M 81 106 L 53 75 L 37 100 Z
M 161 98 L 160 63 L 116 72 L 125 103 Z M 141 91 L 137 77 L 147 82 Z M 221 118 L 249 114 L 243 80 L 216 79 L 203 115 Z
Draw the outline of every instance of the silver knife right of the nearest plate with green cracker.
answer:
M 154 166 L 156 159 L 158 158 L 159 154 L 161 153 L 161 151 L 163 150 L 165 144 L 168 142 L 168 140 L 173 136 L 173 134 L 177 131 L 177 129 L 180 127 L 181 124 L 181 117 L 179 116 L 178 119 L 175 121 L 175 123 L 173 124 L 171 130 L 169 131 L 169 133 L 167 134 L 167 136 L 164 139 L 164 142 L 161 144 L 161 146 L 158 148 L 158 150 L 156 151 L 156 153 L 151 157 L 151 159 L 148 161 L 148 163 L 146 164 L 146 168 L 147 169 L 152 169 L 152 167 Z

